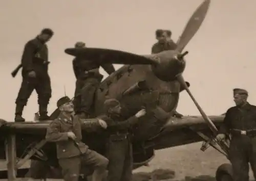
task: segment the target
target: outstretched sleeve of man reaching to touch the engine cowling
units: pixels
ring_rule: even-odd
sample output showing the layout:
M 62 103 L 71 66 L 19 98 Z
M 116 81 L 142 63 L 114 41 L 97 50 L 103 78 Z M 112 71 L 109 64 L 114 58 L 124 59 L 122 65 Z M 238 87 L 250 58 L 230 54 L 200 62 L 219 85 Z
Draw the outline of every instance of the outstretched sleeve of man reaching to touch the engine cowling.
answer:
M 112 119 L 106 120 L 106 124 L 108 124 L 109 130 L 112 131 L 119 131 L 119 130 L 125 130 L 127 128 L 131 128 L 134 124 L 138 122 L 138 118 L 136 116 L 132 116 L 129 119 L 126 119 L 125 121 L 114 121 Z

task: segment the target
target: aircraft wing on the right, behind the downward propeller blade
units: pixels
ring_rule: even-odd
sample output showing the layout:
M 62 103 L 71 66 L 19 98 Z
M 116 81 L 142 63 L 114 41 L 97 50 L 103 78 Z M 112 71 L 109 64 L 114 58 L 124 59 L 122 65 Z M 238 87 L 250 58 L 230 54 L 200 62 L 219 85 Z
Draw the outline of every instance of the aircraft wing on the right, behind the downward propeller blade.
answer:
M 219 129 L 223 124 L 225 115 L 208 117 Z M 202 116 L 170 117 L 162 127 L 161 132 L 149 140 L 151 142 L 149 145 L 154 143 L 154 149 L 164 149 L 204 141 L 203 145 L 206 148 L 213 145 L 215 149 L 223 153 L 222 148 L 216 146 L 217 143 L 212 139 L 215 139 L 215 136 Z

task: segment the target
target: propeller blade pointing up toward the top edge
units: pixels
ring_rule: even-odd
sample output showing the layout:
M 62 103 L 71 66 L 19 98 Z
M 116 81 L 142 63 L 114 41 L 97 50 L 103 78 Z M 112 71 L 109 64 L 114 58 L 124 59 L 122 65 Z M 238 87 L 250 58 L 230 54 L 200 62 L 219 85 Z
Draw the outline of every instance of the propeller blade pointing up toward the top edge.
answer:
M 201 27 L 202 22 L 207 14 L 208 8 L 210 5 L 210 0 L 205 0 L 194 12 L 194 14 L 188 20 L 186 27 L 184 28 L 176 50 L 181 53 L 184 47 L 188 44 L 191 38 L 197 33 Z

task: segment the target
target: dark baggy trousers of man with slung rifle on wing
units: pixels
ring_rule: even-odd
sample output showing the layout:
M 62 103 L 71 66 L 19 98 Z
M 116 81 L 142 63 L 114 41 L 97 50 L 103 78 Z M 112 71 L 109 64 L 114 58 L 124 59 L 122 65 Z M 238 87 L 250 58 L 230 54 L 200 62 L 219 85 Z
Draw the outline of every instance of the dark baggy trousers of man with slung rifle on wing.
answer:
M 26 106 L 34 89 L 38 95 L 38 105 L 47 106 L 52 96 L 51 80 L 48 73 L 36 74 L 34 78 L 24 75 L 15 103 Z

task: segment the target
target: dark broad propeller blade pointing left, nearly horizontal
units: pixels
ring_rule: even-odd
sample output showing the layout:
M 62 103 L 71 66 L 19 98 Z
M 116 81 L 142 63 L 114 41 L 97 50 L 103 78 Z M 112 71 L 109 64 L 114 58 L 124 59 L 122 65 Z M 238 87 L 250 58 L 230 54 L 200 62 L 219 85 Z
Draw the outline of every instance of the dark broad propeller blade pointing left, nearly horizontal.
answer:
M 152 56 L 140 56 L 125 51 L 105 48 L 67 48 L 65 53 L 71 56 L 79 56 L 86 60 L 97 61 L 99 64 L 156 64 Z

